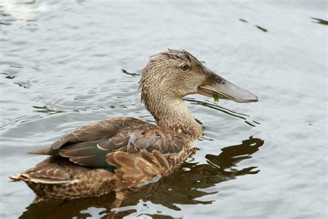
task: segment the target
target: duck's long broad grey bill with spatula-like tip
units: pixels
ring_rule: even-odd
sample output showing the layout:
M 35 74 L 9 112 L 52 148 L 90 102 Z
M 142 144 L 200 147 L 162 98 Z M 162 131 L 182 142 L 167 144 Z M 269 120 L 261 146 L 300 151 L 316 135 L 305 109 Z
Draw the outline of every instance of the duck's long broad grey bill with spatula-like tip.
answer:
M 206 69 L 208 77 L 201 86 L 198 87 L 198 94 L 204 96 L 217 96 L 221 99 L 233 100 L 238 103 L 257 102 L 258 98 L 254 94 L 234 85 L 232 82 L 218 76 Z

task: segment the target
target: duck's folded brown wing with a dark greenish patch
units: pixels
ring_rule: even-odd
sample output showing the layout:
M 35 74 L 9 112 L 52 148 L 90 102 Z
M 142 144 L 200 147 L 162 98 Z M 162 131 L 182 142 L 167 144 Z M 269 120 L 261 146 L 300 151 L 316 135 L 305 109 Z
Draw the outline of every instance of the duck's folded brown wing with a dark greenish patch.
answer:
M 108 160 L 114 152 L 130 155 L 145 150 L 174 155 L 182 150 L 182 141 L 178 135 L 160 130 L 156 125 L 118 117 L 78 128 L 47 148 L 30 150 L 28 153 L 67 157 L 82 166 L 113 170 L 116 167 L 109 164 Z

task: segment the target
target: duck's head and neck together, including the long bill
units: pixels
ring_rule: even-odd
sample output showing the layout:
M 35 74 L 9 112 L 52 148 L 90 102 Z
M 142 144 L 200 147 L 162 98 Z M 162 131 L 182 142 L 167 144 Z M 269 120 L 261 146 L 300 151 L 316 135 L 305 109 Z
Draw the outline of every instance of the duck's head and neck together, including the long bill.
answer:
M 150 57 L 140 88 L 141 98 L 158 125 L 181 130 L 193 139 L 201 136 L 202 128 L 183 103 L 183 96 L 202 94 L 239 103 L 257 101 L 257 96 L 210 71 L 187 51 L 173 49 Z

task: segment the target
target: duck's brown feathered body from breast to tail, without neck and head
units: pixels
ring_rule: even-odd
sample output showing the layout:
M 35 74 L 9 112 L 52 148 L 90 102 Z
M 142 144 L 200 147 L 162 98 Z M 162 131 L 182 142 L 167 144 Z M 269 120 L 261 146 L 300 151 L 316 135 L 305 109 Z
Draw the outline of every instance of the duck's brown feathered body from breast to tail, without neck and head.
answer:
M 169 173 L 190 152 L 188 143 L 181 134 L 145 121 L 107 119 L 31 150 L 51 157 L 10 178 L 24 180 L 43 199 L 98 196 Z

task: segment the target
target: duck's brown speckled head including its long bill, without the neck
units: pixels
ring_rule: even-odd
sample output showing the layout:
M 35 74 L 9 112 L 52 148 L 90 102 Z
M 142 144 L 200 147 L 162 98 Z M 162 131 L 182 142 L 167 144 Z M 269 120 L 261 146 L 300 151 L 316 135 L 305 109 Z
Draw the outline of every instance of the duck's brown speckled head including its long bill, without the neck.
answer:
M 217 96 L 238 103 L 256 102 L 257 96 L 206 68 L 188 51 L 169 49 L 149 58 L 140 80 L 142 99 L 182 99 L 188 94 Z

